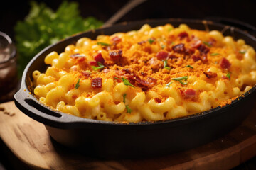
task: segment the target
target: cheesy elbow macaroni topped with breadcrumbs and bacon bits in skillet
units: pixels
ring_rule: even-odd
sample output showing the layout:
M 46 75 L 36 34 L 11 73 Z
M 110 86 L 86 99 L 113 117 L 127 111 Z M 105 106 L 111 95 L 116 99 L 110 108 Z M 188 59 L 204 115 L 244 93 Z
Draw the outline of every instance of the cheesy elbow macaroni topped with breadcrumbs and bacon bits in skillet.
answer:
M 117 122 L 179 118 L 225 106 L 256 83 L 255 50 L 218 30 L 151 26 L 80 38 L 45 57 L 34 94 L 51 108 Z

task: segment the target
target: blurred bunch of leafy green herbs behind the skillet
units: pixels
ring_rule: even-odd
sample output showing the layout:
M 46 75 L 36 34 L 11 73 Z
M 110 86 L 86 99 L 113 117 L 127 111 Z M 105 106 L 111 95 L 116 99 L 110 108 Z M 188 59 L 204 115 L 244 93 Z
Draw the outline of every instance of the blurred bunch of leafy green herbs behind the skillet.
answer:
M 31 1 L 30 4 L 28 15 L 14 26 L 19 55 L 19 76 L 32 57 L 43 48 L 70 35 L 102 26 L 102 21 L 93 17 L 82 18 L 78 8 L 79 4 L 76 2 L 63 1 L 56 11 L 43 2 Z

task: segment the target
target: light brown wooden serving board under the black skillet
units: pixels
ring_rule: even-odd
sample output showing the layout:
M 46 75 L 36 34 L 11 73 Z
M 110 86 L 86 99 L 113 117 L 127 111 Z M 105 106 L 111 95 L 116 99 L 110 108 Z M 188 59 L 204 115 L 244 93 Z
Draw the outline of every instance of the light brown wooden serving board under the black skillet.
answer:
M 107 160 L 74 152 L 53 141 L 44 125 L 21 113 L 14 101 L 0 104 L 0 137 L 31 169 L 231 169 L 256 155 L 256 109 L 218 140 L 154 158 Z

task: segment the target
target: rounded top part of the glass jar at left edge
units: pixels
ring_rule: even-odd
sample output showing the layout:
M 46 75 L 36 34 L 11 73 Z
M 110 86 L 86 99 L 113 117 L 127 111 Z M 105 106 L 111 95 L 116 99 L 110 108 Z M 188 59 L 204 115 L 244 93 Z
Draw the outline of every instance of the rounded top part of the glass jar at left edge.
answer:
M 11 38 L 0 31 L 0 64 L 4 64 L 16 55 Z

